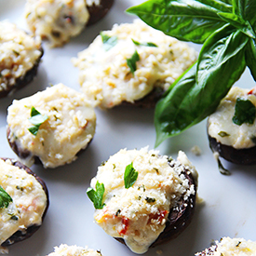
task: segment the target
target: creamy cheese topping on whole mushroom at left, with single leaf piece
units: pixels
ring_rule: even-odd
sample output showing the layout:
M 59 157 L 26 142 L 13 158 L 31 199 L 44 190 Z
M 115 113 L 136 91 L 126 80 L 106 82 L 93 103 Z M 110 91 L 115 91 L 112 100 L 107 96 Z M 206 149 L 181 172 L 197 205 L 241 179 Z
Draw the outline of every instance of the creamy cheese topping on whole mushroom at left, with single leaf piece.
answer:
M 48 119 L 34 136 L 28 128 L 31 108 Z M 31 153 L 20 159 L 31 166 L 37 155 L 45 168 L 55 168 L 70 163 L 76 154 L 87 147 L 96 128 L 96 115 L 84 95 L 62 84 L 37 92 L 31 97 L 13 101 L 8 107 L 7 124 L 9 140 Z

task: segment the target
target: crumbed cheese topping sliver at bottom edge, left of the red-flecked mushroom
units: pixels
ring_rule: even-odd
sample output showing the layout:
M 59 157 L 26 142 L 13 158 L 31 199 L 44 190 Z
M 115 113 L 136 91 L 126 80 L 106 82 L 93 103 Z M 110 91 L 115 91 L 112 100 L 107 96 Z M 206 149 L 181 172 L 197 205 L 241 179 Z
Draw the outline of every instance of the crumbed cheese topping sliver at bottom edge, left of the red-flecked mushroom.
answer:
M 60 247 L 55 247 L 54 252 L 48 254 L 47 256 L 101 256 L 101 252 L 94 249 L 84 249 L 78 246 L 67 246 L 61 245 Z

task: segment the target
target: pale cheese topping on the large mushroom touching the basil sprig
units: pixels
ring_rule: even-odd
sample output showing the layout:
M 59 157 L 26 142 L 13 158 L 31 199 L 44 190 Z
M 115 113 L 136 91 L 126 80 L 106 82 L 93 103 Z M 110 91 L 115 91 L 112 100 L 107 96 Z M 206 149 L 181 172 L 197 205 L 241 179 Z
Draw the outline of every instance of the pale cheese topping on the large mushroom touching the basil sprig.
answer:
M 101 108 L 111 108 L 122 101 L 133 102 L 146 96 L 155 87 L 166 90 L 193 62 L 196 52 L 187 44 L 147 26 L 141 20 L 115 24 L 110 37 L 117 37 L 114 47 L 106 50 L 98 35 L 93 43 L 73 59 L 80 70 L 79 82 L 90 101 Z M 154 43 L 157 47 L 136 46 Z M 137 50 L 134 75 L 127 59 Z

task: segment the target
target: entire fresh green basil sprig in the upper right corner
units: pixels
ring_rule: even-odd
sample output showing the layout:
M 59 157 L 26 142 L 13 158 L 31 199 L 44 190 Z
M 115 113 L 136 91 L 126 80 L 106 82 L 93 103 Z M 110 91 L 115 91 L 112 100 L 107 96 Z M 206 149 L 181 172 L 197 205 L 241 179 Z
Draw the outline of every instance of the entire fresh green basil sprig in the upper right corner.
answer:
M 255 0 L 149 0 L 128 8 L 165 34 L 203 44 L 156 104 L 155 146 L 212 114 L 246 66 L 256 80 L 255 10 Z

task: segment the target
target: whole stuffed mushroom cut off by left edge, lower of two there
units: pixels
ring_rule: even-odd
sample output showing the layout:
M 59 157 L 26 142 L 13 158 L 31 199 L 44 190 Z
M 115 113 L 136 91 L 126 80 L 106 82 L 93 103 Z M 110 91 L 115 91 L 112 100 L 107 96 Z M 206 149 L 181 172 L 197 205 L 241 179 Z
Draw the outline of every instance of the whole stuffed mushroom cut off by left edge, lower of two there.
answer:
M 32 236 L 49 205 L 45 182 L 19 161 L 0 158 L 0 198 L 1 246 Z

